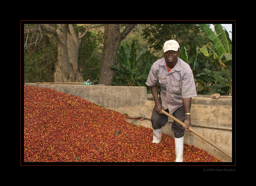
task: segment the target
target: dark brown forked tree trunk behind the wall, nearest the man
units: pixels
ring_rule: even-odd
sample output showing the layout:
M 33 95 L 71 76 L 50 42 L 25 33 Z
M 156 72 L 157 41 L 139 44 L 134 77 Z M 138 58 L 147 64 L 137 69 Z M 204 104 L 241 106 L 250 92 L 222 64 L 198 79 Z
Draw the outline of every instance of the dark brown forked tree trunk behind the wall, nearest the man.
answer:
M 114 69 L 110 68 L 110 65 L 115 64 L 120 41 L 131 32 L 134 26 L 135 24 L 130 24 L 120 33 L 119 24 L 105 24 L 99 84 L 112 86 L 116 73 Z

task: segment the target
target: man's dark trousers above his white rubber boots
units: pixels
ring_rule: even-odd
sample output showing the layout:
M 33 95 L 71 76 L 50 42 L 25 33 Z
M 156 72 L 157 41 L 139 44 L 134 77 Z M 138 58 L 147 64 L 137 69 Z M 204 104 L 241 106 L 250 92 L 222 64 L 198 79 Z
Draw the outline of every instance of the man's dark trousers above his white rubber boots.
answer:
M 159 97 L 160 103 L 162 103 L 161 98 Z M 166 109 L 166 112 L 169 113 L 169 110 Z M 177 110 L 175 110 L 172 115 L 179 119 L 180 121 L 184 122 L 185 121 L 185 110 L 184 107 L 180 107 Z M 166 123 L 168 122 L 168 116 L 165 114 L 158 114 L 155 110 L 155 108 L 152 111 L 151 115 L 151 123 L 153 129 L 160 129 L 162 128 Z M 173 121 L 172 123 L 172 131 L 174 132 L 174 137 L 175 138 L 181 138 L 184 136 L 185 129 L 182 128 L 182 125 L 179 123 Z

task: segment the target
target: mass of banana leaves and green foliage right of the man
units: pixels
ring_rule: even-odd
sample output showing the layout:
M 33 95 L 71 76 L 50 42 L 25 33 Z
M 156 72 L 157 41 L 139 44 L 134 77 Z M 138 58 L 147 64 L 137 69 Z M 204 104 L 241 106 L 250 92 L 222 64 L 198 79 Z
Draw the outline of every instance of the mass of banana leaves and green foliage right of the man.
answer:
M 198 94 L 232 95 L 232 41 L 220 24 L 216 34 L 206 24 L 200 25 L 211 41 L 200 51 L 206 56 L 204 68 L 195 76 Z

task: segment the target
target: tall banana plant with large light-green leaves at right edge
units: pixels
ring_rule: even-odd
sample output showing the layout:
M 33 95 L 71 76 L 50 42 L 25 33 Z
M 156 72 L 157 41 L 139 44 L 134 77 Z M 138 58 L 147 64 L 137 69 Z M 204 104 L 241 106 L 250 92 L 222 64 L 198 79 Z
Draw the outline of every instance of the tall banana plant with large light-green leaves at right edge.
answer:
M 225 81 L 222 78 L 212 76 L 213 78 L 217 78 L 219 83 L 223 86 L 228 86 L 228 95 L 232 95 L 232 41 L 229 38 L 228 32 L 226 29 L 223 29 L 221 24 L 213 24 L 216 34 L 212 31 L 209 26 L 206 24 L 200 24 L 202 31 L 206 34 L 206 36 L 210 39 L 212 46 L 204 46 L 200 48 L 200 51 L 204 54 L 204 56 L 208 58 L 213 58 L 214 60 L 218 60 L 221 64 L 221 71 L 224 72 L 222 75 L 225 78 Z M 209 71 L 204 69 L 204 72 L 196 75 L 200 76 L 203 74 L 207 74 L 208 76 L 212 75 Z M 219 73 L 219 72 L 218 72 Z M 215 74 L 216 75 L 216 74 Z M 225 82 L 228 80 L 228 83 Z

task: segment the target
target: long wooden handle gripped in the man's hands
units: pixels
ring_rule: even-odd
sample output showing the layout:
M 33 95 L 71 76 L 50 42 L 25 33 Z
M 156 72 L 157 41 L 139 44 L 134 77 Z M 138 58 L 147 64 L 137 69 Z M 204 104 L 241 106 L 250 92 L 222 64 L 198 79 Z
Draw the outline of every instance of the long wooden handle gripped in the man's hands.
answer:
M 168 117 L 170 117 L 171 119 L 173 119 L 175 122 L 179 123 L 180 125 L 184 126 L 186 125 L 185 123 L 183 123 L 182 121 L 178 120 L 176 117 L 174 117 L 173 115 L 169 114 L 168 112 L 165 112 L 162 109 L 162 112 L 167 115 Z M 209 139 L 205 138 L 204 136 L 202 136 L 201 134 L 199 134 L 198 132 L 196 132 L 194 129 L 192 129 L 191 127 L 188 128 L 189 131 L 193 132 L 194 134 L 196 134 L 196 136 L 202 138 L 204 141 L 206 141 L 207 143 L 209 143 L 210 145 L 214 146 L 216 149 L 218 149 L 220 152 L 224 153 L 225 155 L 227 155 L 229 158 L 232 159 L 232 155 L 230 153 L 228 153 L 227 151 L 225 151 L 224 149 L 222 149 L 219 145 L 216 145 L 215 143 L 213 143 L 212 141 L 210 141 Z

